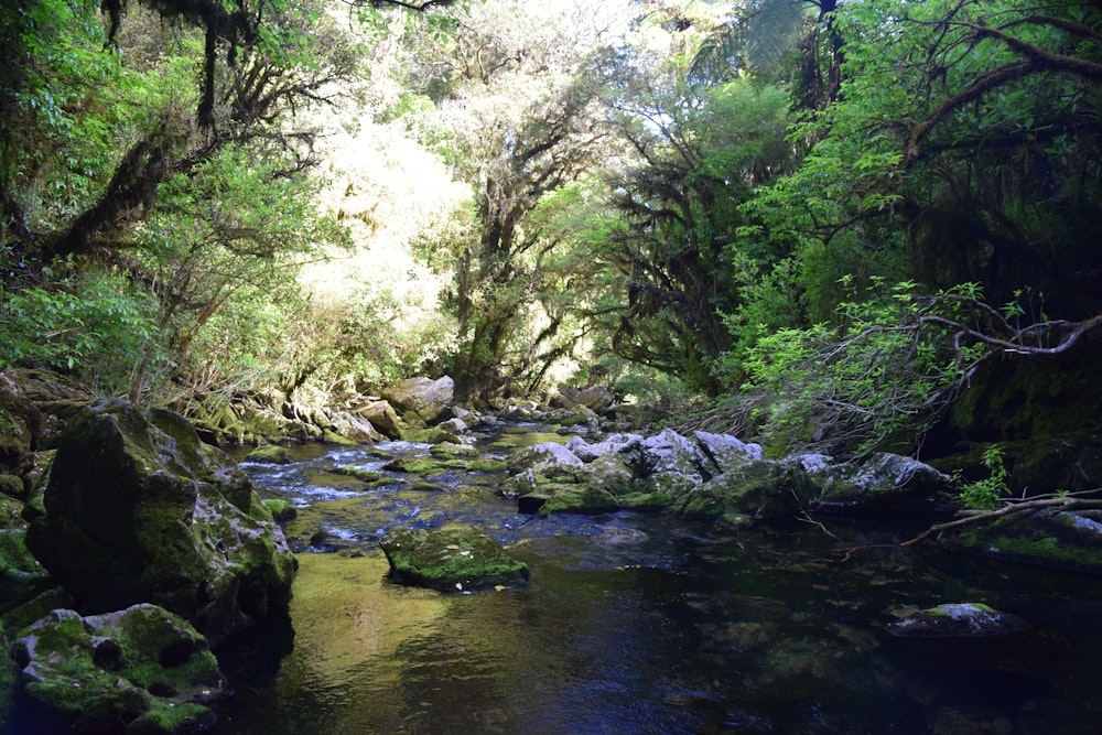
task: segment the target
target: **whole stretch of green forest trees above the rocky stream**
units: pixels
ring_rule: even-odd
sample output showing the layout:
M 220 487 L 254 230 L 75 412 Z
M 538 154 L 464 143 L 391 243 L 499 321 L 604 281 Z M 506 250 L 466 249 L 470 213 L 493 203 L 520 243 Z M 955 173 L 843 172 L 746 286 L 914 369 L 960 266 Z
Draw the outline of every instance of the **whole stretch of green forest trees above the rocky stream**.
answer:
M 1102 314 L 1089 3 L 17 0 L 0 41 L 0 368 L 99 394 L 606 383 L 917 452 Z

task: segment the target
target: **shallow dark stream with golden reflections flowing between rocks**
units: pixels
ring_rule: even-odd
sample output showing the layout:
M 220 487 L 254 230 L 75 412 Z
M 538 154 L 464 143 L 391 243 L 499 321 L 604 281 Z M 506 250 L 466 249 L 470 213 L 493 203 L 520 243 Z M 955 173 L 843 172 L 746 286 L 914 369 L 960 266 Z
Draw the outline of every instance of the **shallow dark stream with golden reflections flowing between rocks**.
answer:
M 566 437 L 509 426 L 483 456 Z M 217 735 L 370 733 L 1099 733 L 1102 581 L 896 543 L 925 527 L 668 515 L 518 515 L 493 472 L 437 489 L 382 469 L 429 446 L 305 445 L 244 463 L 298 507 L 290 633 L 219 650 Z M 369 489 L 339 467 L 381 472 Z M 442 594 L 387 579 L 390 528 L 474 527 L 527 588 Z M 893 536 L 895 533 L 895 536 Z M 987 639 L 894 638 L 897 616 L 983 602 L 1027 621 Z

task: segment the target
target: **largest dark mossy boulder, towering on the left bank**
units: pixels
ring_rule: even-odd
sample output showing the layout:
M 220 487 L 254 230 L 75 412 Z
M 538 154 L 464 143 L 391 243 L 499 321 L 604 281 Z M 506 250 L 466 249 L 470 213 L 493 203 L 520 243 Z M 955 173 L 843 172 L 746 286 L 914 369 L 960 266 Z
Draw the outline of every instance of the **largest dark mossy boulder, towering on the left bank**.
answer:
M 282 531 L 180 414 L 89 407 L 62 436 L 43 505 L 26 545 L 82 612 L 154 603 L 217 642 L 288 607 Z

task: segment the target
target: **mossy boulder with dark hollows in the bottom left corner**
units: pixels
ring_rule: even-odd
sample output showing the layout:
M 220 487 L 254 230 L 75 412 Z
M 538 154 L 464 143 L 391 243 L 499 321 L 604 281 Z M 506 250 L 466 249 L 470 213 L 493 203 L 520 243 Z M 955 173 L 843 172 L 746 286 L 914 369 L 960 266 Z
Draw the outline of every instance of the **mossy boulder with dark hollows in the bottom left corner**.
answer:
M 26 693 L 76 732 L 182 734 L 215 723 L 225 680 L 206 639 L 154 605 L 82 617 L 55 609 L 12 646 Z

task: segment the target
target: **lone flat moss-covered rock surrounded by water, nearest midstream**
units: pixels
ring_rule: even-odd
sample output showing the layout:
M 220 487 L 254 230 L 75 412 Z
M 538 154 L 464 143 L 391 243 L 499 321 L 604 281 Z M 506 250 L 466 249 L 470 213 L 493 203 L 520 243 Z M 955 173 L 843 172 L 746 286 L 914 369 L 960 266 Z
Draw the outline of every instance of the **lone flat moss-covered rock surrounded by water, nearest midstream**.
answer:
M 403 584 L 454 592 L 528 582 L 527 564 L 468 529 L 399 529 L 383 537 L 381 545 L 391 576 Z

